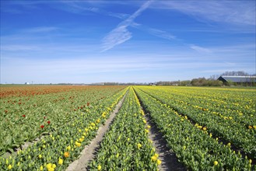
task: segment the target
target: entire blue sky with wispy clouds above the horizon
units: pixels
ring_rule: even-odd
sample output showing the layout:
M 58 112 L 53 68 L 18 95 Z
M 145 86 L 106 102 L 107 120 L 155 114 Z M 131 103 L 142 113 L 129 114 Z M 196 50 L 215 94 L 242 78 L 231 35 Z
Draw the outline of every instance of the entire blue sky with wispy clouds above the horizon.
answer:
M 1 1 L 1 83 L 255 73 L 255 1 Z

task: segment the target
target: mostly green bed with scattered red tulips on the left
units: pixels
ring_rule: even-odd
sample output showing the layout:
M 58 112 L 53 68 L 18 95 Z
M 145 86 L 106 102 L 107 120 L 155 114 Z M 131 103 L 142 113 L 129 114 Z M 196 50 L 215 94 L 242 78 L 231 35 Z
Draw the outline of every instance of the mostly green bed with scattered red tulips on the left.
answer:
M 17 93 L 17 96 L 0 99 L 0 156 L 7 151 L 13 152 L 25 141 L 33 141 L 42 134 L 55 131 L 71 122 L 84 108 L 100 106 L 107 96 L 124 89 L 122 86 L 74 86 L 69 91 L 44 94 L 46 87 L 34 87 L 38 92 L 43 91 L 43 95 L 18 96 Z M 47 89 L 55 90 L 55 87 L 49 86 Z

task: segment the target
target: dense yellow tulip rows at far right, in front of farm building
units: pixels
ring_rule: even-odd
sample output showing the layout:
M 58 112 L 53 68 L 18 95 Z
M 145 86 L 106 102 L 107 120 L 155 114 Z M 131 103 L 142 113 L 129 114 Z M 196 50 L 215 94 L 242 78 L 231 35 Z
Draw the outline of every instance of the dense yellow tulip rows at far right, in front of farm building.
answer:
M 174 96 L 173 100 L 179 103 L 186 103 L 200 110 L 207 110 L 224 120 L 234 120 L 237 124 L 245 124 L 246 126 L 256 123 L 254 116 L 256 92 L 254 89 L 159 87 L 158 90 L 169 96 Z

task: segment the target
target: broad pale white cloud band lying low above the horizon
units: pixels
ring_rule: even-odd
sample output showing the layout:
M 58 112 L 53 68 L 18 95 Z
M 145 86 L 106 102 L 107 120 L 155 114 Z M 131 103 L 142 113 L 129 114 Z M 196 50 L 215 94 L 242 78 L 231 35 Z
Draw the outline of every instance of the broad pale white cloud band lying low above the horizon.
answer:
M 209 75 L 219 74 L 217 70 L 244 70 L 249 73 L 254 73 L 255 71 L 255 67 L 250 61 L 230 61 L 225 59 L 225 54 L 220 57 L 222 60 L 216 60 L 216 62 L 191 61 L 191 58 L 199 59 L 198 55 L 200 56 L 200 54 L 180 51 L 162 55 L 158 53 L 134 54 L 132 56 L 126 54 L 122 55 L 122 58 L 118 54 L 112 54 L 107 57 L 103 54 L 98 55 L 91 58 L 72 56 L 72 58 L 59 59 L 5 56 L 1 63 L 0 82 L 18 82 L 17 80 L 21 80 L 21 83 L 31 80 L 37 83 L 103 82 L 110 80 L 117 82 L 121 82 L 121 80 L 124 80 L 124 82 L 138 80 L 138 82 L 142 82 L 142 77 L 138 75 L 149 77 L 150 79 L 148 80 L 151 81 L 160 81 L 161 76 L 163 76 L 162 80 L 189 79 L 190 77 L 192 79 L 202 73 L 209 73 Z M 205 58 L 205 54 L 201 56 Z M 173 75 L 175 78 L 161 75 L 163 72 L 170 73 L 170 75 L 175 73 Z M 124 79 L 124 74 L 133 75 L 133 77 Z M 103 75 L 106 76 L 103 77 Z M 78 78 L 75 79 L 75 77 Z M 16 79 L 14 80 L 14 78 Z

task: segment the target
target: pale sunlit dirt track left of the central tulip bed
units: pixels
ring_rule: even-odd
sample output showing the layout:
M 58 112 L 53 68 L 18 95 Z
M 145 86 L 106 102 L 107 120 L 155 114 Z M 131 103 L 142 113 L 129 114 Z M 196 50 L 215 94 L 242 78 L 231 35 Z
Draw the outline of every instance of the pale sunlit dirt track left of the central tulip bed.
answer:
M 124 95 L 124 97 L 120 100 L 119 103 L 117 103 L 116 108 L 114 111 L 110 114 L 110 117 L 107 119 L 105 124 L 99 128 L 97 131 L 96 137 L 93 138 L 93 140 L 90 142 L 89 145 L 86 145 L 86 147 L 82 150 L 81 156 L 79 159 L 72 162 L 66 171 L 80 171 L 80 170 L 86 170 L 87 165 L 90 161 L 93 160 L 93 158 L 96 155 L 96 150 L 100 147 L 100 141 L 103 140 L 104 134 L 108 131 L 110 124 L 113 122 L 114 117 L 116 116 L 117 112 L 122 106 L 122 103 L 124 102 L 124 98 L 127 95 L 127 93 Z

